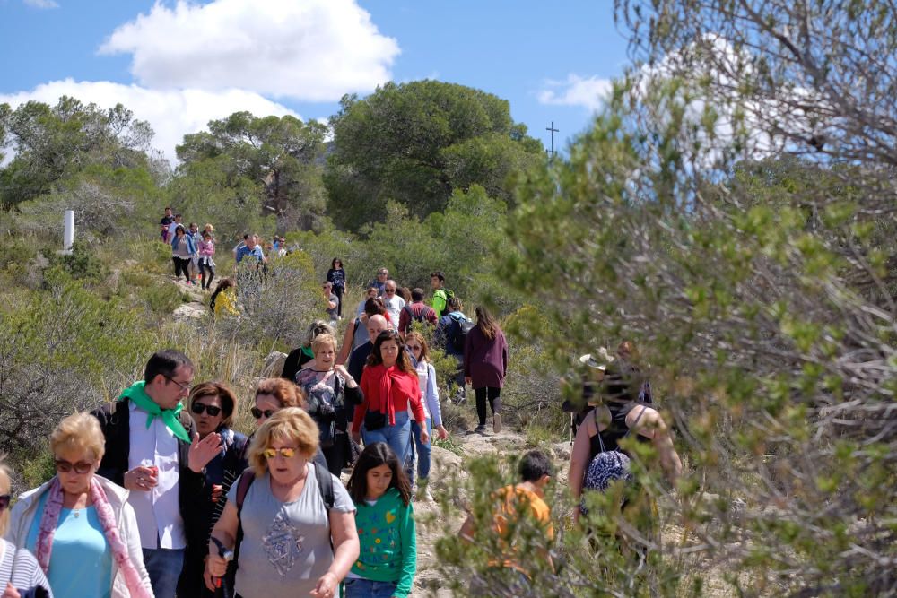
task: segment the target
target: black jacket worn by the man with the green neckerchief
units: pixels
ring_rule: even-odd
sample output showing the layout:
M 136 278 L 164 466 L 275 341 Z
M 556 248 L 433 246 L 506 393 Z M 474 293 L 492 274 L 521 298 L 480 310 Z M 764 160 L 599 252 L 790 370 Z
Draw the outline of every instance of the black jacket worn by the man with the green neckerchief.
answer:
M 125 472 L 128 471 L 127 459 L 131 454 L 131 413 L 128 409 L 129 399 L 106 403 L 99 409 L 91 412 L 91 415 L 100 420 L 100 429 L 106 437 L 106 453 L 97 470 L 104 478 L 114 481 L 119 486 L 125 486 Z M 187 429 L 187 434 L 193 438 L 196 434 L 196 425 L 187 412 L 180 412 L 180 422 Z M 184 520 L 185 533 L 190 537 L 191 522 L 196 521 L 192 509 L 199 502 L 196 498 L 204 495 L 205 470 L 193 472 L 187 467 L 189 463 L 190 443 L 178 438 L 178 497 L 180 501 L 180 516 Z

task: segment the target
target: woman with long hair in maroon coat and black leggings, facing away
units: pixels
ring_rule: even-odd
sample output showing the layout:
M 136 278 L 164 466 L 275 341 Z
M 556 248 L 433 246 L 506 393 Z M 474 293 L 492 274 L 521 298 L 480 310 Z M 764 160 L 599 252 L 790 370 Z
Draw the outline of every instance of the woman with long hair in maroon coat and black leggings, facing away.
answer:
M 486 398 L 492 408 L 492 430 L 501 432 L 501 386 L 508 373 L 508 342 L 489 310 L 476 308 L 476 326 L 464 345 L 464 377 L 476 394 L 476 414 L 480 423 L 474 430 L 486 431 Z

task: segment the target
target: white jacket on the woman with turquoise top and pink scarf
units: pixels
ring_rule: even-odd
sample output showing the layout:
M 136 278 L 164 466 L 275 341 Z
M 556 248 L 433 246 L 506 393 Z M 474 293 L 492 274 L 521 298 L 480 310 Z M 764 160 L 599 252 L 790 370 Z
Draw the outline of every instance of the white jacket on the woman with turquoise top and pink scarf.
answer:
M 106 491 L 109 506 L 112 507 L 112 512 L 115 513 L 116 521 L 118 522 L 118 533 L 121 534 L 122 542 L 125 542 L 127 546 L 127 554 L 131 558 L 131 563 L 137 570 L 141 582 L 152 596 L 150 576 L 146 573 L 144 552 L 140 547 L 137 518 L 134 515 L 134 508 L 127 504 L 128 491 L 100 475 L 95 475 L 94 477 L 100 482 L 102 489 Z M 39 488 L 25 492 L 13 506 L 13 510 L 10 512 L 10 526 L 6 531 L 6 540 L 13 542 L 17 548 L 25 548 L 25 542 L 28 541 L 28 533 L 31 530 L 31 525 L 34 523 L 34 517 L 38 516 L 37 510 L 40 497 L 49 490 L 52 481 L 50 480 L 39 486 Z M 127 591 L 125 573 L 118 568 L 118 563 L 116 563 L 115 559 L 112 559 L 112 598 L 130 598 L 130 595 Z

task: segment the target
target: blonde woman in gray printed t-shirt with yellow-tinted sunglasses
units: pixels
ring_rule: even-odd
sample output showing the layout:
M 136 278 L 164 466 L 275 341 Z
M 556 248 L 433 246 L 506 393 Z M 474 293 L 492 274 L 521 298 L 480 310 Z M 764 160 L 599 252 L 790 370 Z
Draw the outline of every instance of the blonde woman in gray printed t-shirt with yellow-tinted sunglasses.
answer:
M 242 529 L 237 594 L 243 598 L 334 598 L 355 559 L 359 542 L 355 507 L 339 478 L 327 473 L 333 506 L 318 486 L 318 427 L 308 413 L 286 408 L 257 430 L 249 445 L 251 485 L 237 481 L 215 524 L 206 576 L 223 576 Z M 241 490 L 242 489 L 242 490 Z M 239 493 L 242 492 L 242 496 Z M 237 504 L 240 503 L 238 509 Z

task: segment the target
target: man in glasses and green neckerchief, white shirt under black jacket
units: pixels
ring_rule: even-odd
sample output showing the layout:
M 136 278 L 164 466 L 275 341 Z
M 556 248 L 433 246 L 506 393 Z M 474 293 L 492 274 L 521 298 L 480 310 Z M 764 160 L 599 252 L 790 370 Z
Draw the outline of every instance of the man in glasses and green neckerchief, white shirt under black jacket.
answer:
M 130 490 L 144 565 L 152 592 L 175 595 L 187 547 L 189 509 L 202 496 L 205 464 L 221 450 L 221 437 L 203 440 L 181 400 L 193 383 L 193 363 L 180 351 L 153 353 L 144 379 L 129 386 L 116 403 L 91 414 L 100 420 L 106 453 L 97 472 Z

